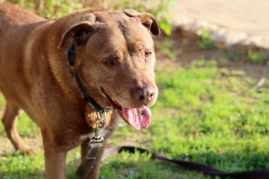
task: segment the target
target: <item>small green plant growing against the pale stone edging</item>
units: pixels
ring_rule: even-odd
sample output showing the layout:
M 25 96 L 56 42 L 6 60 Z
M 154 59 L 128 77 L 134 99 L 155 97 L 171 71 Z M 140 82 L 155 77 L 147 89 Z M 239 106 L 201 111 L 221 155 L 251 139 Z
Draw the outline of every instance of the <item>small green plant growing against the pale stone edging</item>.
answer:
M 197 42 L 200 49 L 209 50 L 214 46 L 214 38 L 210 36 L 210 33 L 209 29 L 202 30 L 201 40 Z

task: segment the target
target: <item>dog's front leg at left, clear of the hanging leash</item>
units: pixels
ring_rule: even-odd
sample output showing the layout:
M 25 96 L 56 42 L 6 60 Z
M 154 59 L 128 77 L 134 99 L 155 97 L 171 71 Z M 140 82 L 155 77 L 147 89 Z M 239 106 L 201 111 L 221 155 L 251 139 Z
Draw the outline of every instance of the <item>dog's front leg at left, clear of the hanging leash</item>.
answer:
M 42 132 L 43 133 L 43 132 Z M 64 179 L 67 150 L 61 149 L 50 137 L 43 135 L 45 175 L 47 179 Z

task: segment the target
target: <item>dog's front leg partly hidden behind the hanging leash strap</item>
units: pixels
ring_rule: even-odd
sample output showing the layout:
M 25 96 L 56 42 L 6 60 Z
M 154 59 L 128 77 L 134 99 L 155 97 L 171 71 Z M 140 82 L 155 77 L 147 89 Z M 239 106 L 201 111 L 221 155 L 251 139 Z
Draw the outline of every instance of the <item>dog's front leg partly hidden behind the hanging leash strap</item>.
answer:
M 103 142 L 103 146 L 99 151 L 98 157 L 96 158 L 96 163 L 93 165 L 93 168 L 91 169 L 91 172 L 88 174 L 87 179 L 99 178 L 100 164 L 104 151 L 105 151 L 105 141 Z M 84 142 L 81 144 L 81 161 L 84 160 L 87 154 L 88 154 L 88 142 Z

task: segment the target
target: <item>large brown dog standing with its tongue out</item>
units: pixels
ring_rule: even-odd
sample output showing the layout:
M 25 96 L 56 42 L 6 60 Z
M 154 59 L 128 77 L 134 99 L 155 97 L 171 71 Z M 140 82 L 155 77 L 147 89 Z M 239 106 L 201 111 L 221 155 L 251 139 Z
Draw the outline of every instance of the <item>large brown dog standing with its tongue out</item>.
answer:
M 84 9 L 46 20 L 0 4 L 0 90 L 6 98 L 3 124 L 17 151 L 30 153 L 16 130 L 23 109 L 41 129 L 47 178 L 64 178 L 67 151 L 96 128 L 96 110 L 84 103 L 75 73 L 86 93 L 102 108 L 113 106 L 135 129 L 147 128 L 156 101 L 154 43 L 159 25 L 149 13 Z M 74 50 L 74 62 L 69 52 Z M 108 112 L 101 136 L 115 127 Z M 104 148 L 104 147 L 103 147 Z M 101 149 L 101 154 L 103 149 Z M 89 178 L 98 178 L 101 154 Z

